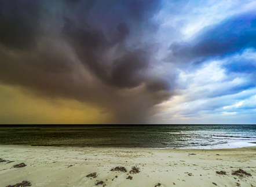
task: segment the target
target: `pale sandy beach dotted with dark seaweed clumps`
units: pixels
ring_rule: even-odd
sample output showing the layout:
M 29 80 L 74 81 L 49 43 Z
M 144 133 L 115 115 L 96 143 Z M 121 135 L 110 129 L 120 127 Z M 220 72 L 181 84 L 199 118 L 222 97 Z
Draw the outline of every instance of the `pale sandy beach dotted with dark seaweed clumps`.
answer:
M 24 180 L 32 186 L 95 186 L 97 180 L 106 186 L 256 186 L 256 146 L 204 150 L 0 145 L 0 158 L 14 161 L 0 163 L 0 186 Z M 12 167 L 22 162 L 27 166 Z M 124 166 L 127 173 L 110 171 L 116 166 Z M 141 172 L 128 174 L 133 166 Z M 231 174 L 239 168 L 252 176 Z M 221 170 L 228 175 L 215 173 Z M 93 172 L 96 178 L 86 177 Z M 126 179 L 129 175 L 132 180 Z

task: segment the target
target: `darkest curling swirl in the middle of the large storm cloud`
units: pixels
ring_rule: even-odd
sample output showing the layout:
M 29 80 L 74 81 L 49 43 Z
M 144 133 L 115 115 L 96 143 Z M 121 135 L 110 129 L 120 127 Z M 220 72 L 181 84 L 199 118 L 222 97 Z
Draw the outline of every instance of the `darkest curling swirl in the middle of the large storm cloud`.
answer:
M 116 43 L 120 44 L 123 41 L 123 38 L 129 33 L 126 24 L 117 25 L 116 30 L 118 32 L 113 42 L 107 41 L 100 31 L 92 30 L 92 28 L 87 28 L 87 30 L 74 28 L 73 25 L 70 20 L 65 19 L 63 33 L 68 36 L 68 41 L 82 59 L 82 63 L 89 67 L 98 78 L 109 85 L 121 88 L 136 87 L 144 81 L 139 75 L 139 71 L 147 68 L 149 62 L 147 51 L 142 49 L 130 51 L 125 48 L 122 50 L 122 53 L 125 54 L 112 61 L 109 67 L 100 58 Z M 107 71 L 107 68 L 110 72 Z

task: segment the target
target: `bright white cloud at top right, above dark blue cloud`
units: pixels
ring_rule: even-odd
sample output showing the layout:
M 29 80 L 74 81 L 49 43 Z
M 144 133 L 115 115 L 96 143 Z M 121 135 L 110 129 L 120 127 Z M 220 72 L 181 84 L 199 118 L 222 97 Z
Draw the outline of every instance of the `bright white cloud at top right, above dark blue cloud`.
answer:
M 173 12 L 173 9 L 179 9 Z M 234 14 L 250 12 L 256 9 L 256 2 L 240 0 L 222 1 L 164 1 L 164 7 L 156 16 L 162 28 L 180 28 L 182 39 L 188 39 L 202 28 L 220 23 Z

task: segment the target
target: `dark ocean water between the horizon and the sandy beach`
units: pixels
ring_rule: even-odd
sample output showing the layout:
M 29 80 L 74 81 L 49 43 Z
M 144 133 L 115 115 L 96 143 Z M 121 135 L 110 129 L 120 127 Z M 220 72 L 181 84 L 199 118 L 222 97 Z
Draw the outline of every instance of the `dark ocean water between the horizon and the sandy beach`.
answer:
M 255 142 L 255 124 L 0 126 L 0 144 L 5 145 L 229 148 Z

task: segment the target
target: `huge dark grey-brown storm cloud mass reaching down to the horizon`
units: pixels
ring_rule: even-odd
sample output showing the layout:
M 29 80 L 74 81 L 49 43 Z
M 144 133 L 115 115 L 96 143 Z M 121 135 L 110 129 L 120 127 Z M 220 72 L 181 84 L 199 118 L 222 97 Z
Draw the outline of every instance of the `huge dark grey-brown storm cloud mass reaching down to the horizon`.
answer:
M 170 97 L 166 81 L 146 74 L 154 53 L 145 41 L 157 28 L 151 19 L 160 1 L 0 5 L 2 83 L 90 102 L 120 123 L 144 123 L 148 109 Z

